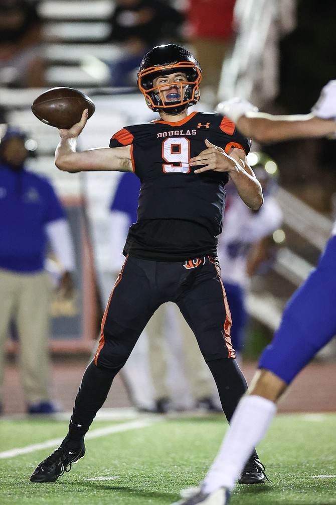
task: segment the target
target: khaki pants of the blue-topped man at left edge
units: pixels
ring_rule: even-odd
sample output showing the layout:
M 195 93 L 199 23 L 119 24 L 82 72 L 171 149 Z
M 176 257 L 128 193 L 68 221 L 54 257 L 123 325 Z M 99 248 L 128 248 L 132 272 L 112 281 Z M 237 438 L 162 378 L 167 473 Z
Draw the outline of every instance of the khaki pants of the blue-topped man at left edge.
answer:
M 0 393 L 4 382 L 6 340 L 10 322 L 14 320 L 20 340 L 20 375 L 27 404 L 49 401 L 51 292 L 46 272 L 17 274 L 0 269 Z

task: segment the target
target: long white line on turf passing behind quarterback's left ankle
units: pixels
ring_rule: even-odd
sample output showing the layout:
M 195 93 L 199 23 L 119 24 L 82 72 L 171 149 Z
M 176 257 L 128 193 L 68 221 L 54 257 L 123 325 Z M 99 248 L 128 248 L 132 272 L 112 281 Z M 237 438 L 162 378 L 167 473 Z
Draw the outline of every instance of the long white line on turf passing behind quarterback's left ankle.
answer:
M 97 430 L 91 431 L 86 435 L 86 439 L 98 438 L 104 435 L 110 435 L 111 433 L 118 433 L 120 431 L 135 430 L 137 428 L 146 428 L 151 424 L 160 421 L 159 418 L 143 419 L 139 421 L 131 421 L 129 423 L 118 424 L 116 426 L 107 426 L 106 428 L 98 428 Z M 53 438 L 52 440 L 47 440 L 46 442 L 36 443 L 32 445 L 26 445 L 25 447 L 17 447 L 15 449 L 5 450 L 0 452 L 0 460 L 6 458 L 15 458 L 15 456 L 20 456 L 21 454 L 28 454 L 29 452 L 34 452 L 35 450 L 46 449 L 48 447 L 58 446 L 62 442 L 62 438 Z

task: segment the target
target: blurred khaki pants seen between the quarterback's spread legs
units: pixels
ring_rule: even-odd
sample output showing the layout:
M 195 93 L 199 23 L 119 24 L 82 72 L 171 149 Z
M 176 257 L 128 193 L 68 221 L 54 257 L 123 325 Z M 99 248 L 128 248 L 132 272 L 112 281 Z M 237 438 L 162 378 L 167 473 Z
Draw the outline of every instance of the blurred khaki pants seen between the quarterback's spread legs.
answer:
M 155 400 L 169 398 L 167 385 L 167 305 L 163 304 L 146 326 L 150 373 L 155 390 Z M 197 345 L 196 338 L 185 322 L 178 307 L 172 304 L 177 319 L 177 331 L 183 342 L 185 373 L 194 400 L 213 396 L 213 378 Z

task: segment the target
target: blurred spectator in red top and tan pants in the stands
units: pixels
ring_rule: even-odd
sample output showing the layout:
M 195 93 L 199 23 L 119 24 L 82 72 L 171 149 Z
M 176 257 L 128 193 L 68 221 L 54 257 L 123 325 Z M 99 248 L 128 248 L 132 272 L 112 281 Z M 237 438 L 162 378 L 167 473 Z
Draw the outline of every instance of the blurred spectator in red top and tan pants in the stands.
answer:
M 236 0 L 187 0 L 186 37 L 202 69 L 202 97 L 211 107 L 217 101 L 224 58 L 234 39 Z

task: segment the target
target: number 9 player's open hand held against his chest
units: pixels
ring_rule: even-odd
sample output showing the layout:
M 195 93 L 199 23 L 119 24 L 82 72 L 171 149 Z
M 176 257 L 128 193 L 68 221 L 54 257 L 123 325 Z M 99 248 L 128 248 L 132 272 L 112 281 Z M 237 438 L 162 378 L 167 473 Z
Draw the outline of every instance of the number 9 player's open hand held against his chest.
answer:
M 209 140 L 205 140 L 205 143 L 207 149 L 190 159 L 190 166 L 192 167 L 203 165 L 202 168 L 195 170 L 195 174 L 201 174 L 209 170 L 214 170 L 215 172 L 236 172 L 237 169 L 241 168 L 236 160 L 225 153 L 222 147 L 212 144 Z

